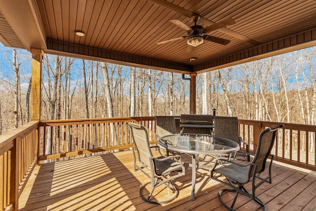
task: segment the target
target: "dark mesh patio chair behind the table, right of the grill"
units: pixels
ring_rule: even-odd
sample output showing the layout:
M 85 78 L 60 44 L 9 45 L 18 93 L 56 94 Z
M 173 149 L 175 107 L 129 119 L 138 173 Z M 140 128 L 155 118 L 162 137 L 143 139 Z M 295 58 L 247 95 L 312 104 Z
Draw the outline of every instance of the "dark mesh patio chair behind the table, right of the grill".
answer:
M 249 153 L 249 145 L 247 142 L 242 140 L 238 133 L 238 119 L 237 117 L 214 117 L 214 135 L 220 136 L 223 138 L 227 138 L 237 142 L 240 146 L 240 143 L 246 148 L 246 152 Z M 239 150 L 236 153 L 228 155 L 229 159 L 237 159 L 237 160 L 246 160 L 250 161 L 250 155 L 240 153 Z M 222 157 L 223 158 L 223 157 Z

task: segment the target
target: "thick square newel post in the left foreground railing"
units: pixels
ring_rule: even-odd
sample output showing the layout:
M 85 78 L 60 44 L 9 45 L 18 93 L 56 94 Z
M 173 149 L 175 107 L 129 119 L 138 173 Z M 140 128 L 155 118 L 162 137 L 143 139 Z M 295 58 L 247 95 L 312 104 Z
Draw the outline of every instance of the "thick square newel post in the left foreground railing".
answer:
M 12 204 L 12 210 L 19 210 L 19 167 L 20 167 L 20 141 L 18 136 L 15 139 L 14 146 L 10 150 L 10 198 L 9 204 Z

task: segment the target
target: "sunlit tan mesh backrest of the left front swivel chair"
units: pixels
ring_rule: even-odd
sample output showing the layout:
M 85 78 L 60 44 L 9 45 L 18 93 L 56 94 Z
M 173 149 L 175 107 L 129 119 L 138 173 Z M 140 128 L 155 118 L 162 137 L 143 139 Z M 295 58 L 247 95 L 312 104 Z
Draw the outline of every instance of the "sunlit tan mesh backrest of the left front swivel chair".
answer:
M 153 157 L 153 153 L 149 146 L 148 134 L 145 127 L 135 124 L 127 123 L 130 128 L 132 140 L 135 144 L 138 160 L 148 168 L 151 168 L 150 157 Z

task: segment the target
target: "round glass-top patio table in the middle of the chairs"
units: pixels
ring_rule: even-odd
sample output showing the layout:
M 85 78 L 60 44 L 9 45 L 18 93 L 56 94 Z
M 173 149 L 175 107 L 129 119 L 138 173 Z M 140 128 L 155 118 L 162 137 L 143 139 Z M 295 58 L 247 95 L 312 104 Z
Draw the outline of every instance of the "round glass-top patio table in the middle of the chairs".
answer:
M 219 155 L 230 154 L 239 150 L 239 145 L 230 139 L 206 134 L 170 134 L 159 139 L 159 145 L 167 150 L 182 152 L 192 157 L 192 193 L 195 199 L 196 169 L 210 166 L 199 165 L 199 155 L 210 155 L 217 158 Z M 195 164 L 195 165 L 194 165 Z

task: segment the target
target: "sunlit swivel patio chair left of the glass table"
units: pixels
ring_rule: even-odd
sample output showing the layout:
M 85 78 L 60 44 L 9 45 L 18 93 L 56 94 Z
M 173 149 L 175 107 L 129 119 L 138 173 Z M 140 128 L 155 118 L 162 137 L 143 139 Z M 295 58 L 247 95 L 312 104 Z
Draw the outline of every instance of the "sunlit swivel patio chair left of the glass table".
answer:
M 158 146 L 150 147 L 146 128 L 130 122 L 128 122 L 127 125 L 129 126 L 132 140 L 135 145 L 135 147 L 133 147 L 134 171 L 139 169 L 151 179 L 150 182 L 141 186 L 139 190 L 140 197 L 145 202 L 153 204 L 165 204 L 171 202 L 178 196 L 179 192 L 178 189 L 170 183 L 170 180 L 185 175 L 185 167 L 182 165 L 181 157 L 179 155 L 154 157 L 151 148 Z M 135 149 L 138 155 L 138 162 L 136 160 Z M 146 190 L 145 187 L 148 184 L 151 184 L 151 191 L 149 191 L 149 194 L 144 193 Z M 165 185 L 168 189 L 173 191 L 174 196 L 166 201 L 158 201 L 157 199 L 154 201 L 161 190 L 158 188 L 158 191 L 154 191 L 160 185 Z M 147 194 L 148 196 L 145 196 Z

